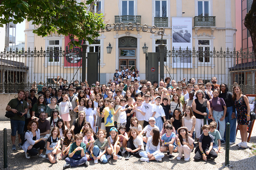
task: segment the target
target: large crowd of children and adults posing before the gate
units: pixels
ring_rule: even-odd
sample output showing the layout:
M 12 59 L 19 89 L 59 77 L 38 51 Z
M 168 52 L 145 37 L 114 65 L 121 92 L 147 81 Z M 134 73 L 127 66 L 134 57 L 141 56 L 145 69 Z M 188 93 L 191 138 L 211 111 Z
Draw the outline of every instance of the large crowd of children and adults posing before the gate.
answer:
M 76 82 L 68 88 L 57 81 L 58 90 L 51 86 L 41 87 L 42 91 L 19 90 L 6 107 L 15 113 L 11 118 L 12 150 L 16 150 L 18 131 L 19 136 L 25 132 L 25 142 L 19 137 L 19 147 L 26 158 L 39 155 L 51 163 L 65 159 L 64 169 L 88 166 L 91 159 L 97 164 L 122 156 L 162 161 L 165 152 L 169 160 L 178 152 L 177 160 L 184 155 L 184 161 L 189 161 L 195 146 L 194 160 L 207 161 L 221 152 L 227 122 L 230 144 L 235 143 L 236 120 L 242 139 L 238 149 L 245 149 L 248 99 L 237 85 L 231 93 L 226 84 L 217 84 L 216 77 L 211 81 L 204 84 L 198 79 L 196 84 L 192 78 L 176 83 L 166 77 L 158 86 L 156 81 L 152 85 L 143 79 L 124 79 L 101 86 L 97 81 L 90 87 L 87 81 Z

